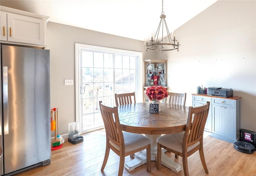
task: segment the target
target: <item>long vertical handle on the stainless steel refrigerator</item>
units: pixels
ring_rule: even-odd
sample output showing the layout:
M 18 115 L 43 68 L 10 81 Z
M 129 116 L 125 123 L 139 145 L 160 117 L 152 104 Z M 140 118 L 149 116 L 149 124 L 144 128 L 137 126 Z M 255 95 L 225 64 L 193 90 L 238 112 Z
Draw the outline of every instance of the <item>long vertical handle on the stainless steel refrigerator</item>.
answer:
M 3 67 L 3 119 L 4 135 L 9 134 L 9 116 L 8 116 L 8 67 Z

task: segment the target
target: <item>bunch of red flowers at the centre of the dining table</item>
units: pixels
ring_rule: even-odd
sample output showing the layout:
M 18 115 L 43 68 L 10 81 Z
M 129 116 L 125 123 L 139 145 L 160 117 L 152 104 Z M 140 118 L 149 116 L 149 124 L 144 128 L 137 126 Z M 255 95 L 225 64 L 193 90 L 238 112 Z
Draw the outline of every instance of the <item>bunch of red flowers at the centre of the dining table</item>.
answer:
M 162 100 L 168 97 L 168 92 L 165 87 L 162 86 L 151 86 L 146 90 L 146 95 L 150 101 Z

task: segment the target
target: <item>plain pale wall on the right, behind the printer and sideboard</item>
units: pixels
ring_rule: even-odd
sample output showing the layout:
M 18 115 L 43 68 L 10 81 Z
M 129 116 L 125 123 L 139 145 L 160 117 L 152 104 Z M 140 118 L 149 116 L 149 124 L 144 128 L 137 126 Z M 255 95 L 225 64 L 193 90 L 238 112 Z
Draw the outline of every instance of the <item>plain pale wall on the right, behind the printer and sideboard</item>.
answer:
M 179 52 L 168 52 L 168 86 L 232 88 L 241 96 L 241 128 L 256 131 L 256 1 L 217 1 L 178 28 Z M 161 58 L 158 54 L 158 58 Z

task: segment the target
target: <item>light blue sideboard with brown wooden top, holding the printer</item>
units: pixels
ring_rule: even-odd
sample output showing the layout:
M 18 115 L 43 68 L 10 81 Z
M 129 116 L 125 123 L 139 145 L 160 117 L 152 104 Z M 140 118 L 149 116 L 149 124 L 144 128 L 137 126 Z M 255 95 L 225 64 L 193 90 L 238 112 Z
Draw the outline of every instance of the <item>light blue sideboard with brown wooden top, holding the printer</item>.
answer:
M 210 110 L 205 125 L 205 131 L 215 138 L 228 142 L 239 139 L 241 98 L 208 96 L 207 94 L 192 94 L 193 107 L 210 102 Z

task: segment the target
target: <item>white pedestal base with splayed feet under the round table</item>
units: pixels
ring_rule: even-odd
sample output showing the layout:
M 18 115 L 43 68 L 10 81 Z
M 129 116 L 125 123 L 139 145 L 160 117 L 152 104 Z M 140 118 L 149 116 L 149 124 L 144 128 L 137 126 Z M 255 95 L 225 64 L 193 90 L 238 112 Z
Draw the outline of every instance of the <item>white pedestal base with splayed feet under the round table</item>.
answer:
M 148 138 L 151 139 L 151 161 L 156 161 L 156 157 L 157 157 L 157 142 L 156 139 L 158 137 L 160 137 L 161 135 L 149 135 L 146 134 L 146 136 Z M 166 150 L 164 150 L 166 152 Z M 124 168 L 130 172 L 132 170 L 134 170 L 135 168 L 137 168 L 138 166 L 141 166 L 142 164 L 146 163 L 146 151 L 142 151 L 142 153 L 137 156 L 136 158 L 134 158 L 133 160 L 131 160 L 130 162 L 127 162 L 124 165 Z M 174 162 L 171 158 L 169 158 L 168 156 L 166 156 L 166 154 L 164 154 L 164 152 L 162 152 L 162 158 L 161 158 L 162 162 L 161 164 L 166 166 L 167 168 L 171 169 L 172 171 L 178 173 L 180 172 L 180 170 L 182 169 L 180 164 Z

